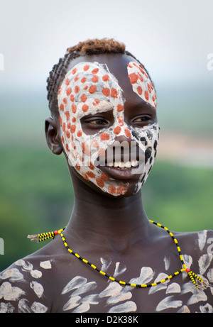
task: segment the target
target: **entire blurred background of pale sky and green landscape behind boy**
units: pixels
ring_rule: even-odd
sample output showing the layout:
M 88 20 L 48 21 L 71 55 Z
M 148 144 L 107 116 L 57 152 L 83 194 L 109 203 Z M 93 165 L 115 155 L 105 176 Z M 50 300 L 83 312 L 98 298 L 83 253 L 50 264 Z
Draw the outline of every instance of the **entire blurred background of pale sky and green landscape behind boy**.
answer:
M 207 70 L 207 55 L 213 52 L 212 2 L 204 1 L 206 6 L 200 8 L 198 1 L 180 1 L 174 8 L 166 0 L 135 1 L 129 8 L 129 1 L 115 4 L 109 0 L 117 14 L 110 26 L 101 24 L 99 1 L 93 6 L 84 0 L 81 4 L 17 2 L 1 6 L 0 28 L 5 32 L 0 35 L 4 54 L 4 70 L 0 70 L 0 238 L 4 240 L 0 271 L 42 246 L 30 242 L 28 234 L 61 228 L 70 218 L 73 192 L 67 165 L 45 143 L 44 121 L 49 116 L 45 79 L 68 46 L 87 38 L 107 35 L 124 41 L 155 82 L 160 142 L 143 187 L 148 217 L 173 231 L 213 229 L 213 70 Z M 61 6 L 66 8 L 62 17 L 58 15 Z M 70 21 L 69 17 L 73 8 L 82 6 L 87 9 L 82 13 L 84 24 L 73 35 L 77 18 L 72 16 Z M 99 31 L 86 14 L 94 8 Z M 110 15 L 109 6 L 104 16 Z M 125 28 L 126 21 L 130 23 Z M 136 31 L 143 33 L 136 35 Z

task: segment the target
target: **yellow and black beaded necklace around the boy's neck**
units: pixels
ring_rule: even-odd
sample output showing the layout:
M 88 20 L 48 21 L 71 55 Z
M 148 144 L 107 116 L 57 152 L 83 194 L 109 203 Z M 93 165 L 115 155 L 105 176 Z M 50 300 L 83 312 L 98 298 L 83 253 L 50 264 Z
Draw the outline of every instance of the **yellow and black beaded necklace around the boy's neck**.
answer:
M 155 283 L 151 283 L 151 284 L 133 284 L 133 283 L 129 283 L 129 282 L 124 282 L 122 280 L 116 279 L 114 277 L 109 276 L 106 272 L 103 272 L 102 270 L 99 270 L 99 268 L 97 268 L 95 265 L 93 265 L 91 262 L 89 262 L 88 260 L 84 259 L 83 257 L 81 257 L 80 255 L 78 255 L 75 251 L 71 250 L 69 248 L 69 246 L 67 245 L 66 239 L 65 239 L 65 235 L 62 233 L 62 231 L 64 231 L 65 228 L 61 228 L 59 231 L 54 231 L 54 232 L 48 232 L 48 233 L 41 233 L 38 235 L 28 235 L 28 238 L 31 238 L 31 240 L 36 240 L 37 242 L 42 242 L 43 240 L 48 240 L 48 239 L 54 239 L 55 235 L 60 235 L 62 238 L 62 242 L 65 245 L 65 248 L 67 248 L 67 251 L 69 253 L 71 253 L 72 255 L 75 255 L 75 257 L 77 257 L 78 259 L 80 259 L 82 262 L 87 263 L 87 265 L 89 265 L 90 267 L 92 267 L 94 270 L 97 270 L 97 272 L 99 272 L 101 275 L 107 277 L 108 279 L 110 279 L 113 282 L 117 282 L 121 285 L 126 285 L 126 286 L 131 286 L 131 287 L 153 287 L 156 286 L 158 284 L 162 284 L 163 282 L 166 282 L 168 279 L 171 279 L 177 275 L 179 275 L 181 272 L 187 272 L 188 276 L 190 277 L 192 283 L 195 285 L 195 287 L 202 287 L 200 284 L 197 284 L 196 280 L 199 281 L 200 283 L 203 282 L 203 279 L 196 275 L 195 272 L 192 272 L 192 270 L 190 270 L 189 268 L 186 267 L 185 262 L 183 260 L 182 257 L 182 253 L 180 250 L 180 246 L 178 245 L 178 240 L 175 238 L 175 236 L 173 235 L 173 233 L 171 233 L 168 228 L 166 228 L 165 226 L 161 225 L 160 223 L 155 223 L 155 221 L 151 221 L 151 223 L 155 224 L 156 226 L 163 228 L 165 231 L 167 231 L 169 233 L 169 235 L 171 236 L 171 238 L 173 238 L 175 245 L 177 247 L 178 250 L 178 254 L 180 257 L 180 262 L 182 264 L 182 269 L 178 270 L 177 272 L 174 272 L 173 275 L 170 275 L 168 277 L 166 277 L 165 279 L 161 279 L 159 282 L 155 282 Z M 203 287 L 202 287 L 203 288 Z

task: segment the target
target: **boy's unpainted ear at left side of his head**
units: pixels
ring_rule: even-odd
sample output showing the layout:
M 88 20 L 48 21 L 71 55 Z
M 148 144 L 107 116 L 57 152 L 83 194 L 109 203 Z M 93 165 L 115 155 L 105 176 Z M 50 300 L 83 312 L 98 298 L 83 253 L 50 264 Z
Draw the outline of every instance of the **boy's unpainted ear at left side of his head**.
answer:
M 60 140 L 60 128 L 53 118 L 49 117 L 45 119 L 45 136 L 52 153 L 54 155 L 60 155 L 63 150 Z

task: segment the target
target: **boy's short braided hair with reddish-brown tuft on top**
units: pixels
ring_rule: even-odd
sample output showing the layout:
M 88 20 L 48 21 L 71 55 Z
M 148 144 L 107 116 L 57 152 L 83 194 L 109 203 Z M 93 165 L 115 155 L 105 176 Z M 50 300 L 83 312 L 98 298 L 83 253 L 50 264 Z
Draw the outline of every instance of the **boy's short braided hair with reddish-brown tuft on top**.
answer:
M 73 47 L 67 48 L 67 52 L 65 53 L 64 57 L 60 58 L 58 64 L 53 66 L 53 70 L 50 72 L 47 79 L 49 109 L 52 117 L 58 118 L 59 116 L 58 88 L 60 87 L 62 80 L 65 78 L 67 67 L 70 65 L 70 62 L 75 58 L 84 55 L 99 55 L 103 53 L 123 53 L 136 59 L 136 57 L 134 57 L 129 51 L 126 51 L 126 46 L 124 43 L 116 41 L 112 38 L 89 39 L 84 42 L 80 42 Z

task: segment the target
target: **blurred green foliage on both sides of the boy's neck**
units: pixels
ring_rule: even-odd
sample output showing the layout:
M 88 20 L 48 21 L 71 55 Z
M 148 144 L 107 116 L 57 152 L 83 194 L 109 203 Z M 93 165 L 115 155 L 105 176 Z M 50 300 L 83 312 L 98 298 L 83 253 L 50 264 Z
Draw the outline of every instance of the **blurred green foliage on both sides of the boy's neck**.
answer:
M 48 149 L 1 147 L 0 271 L 38 250 L 27 235 L 64 227 L 73 205 L 65 158 Z M 156 161 L 143 186 L 148 217 L 171 231 L 213 229 L 213 170 Z

